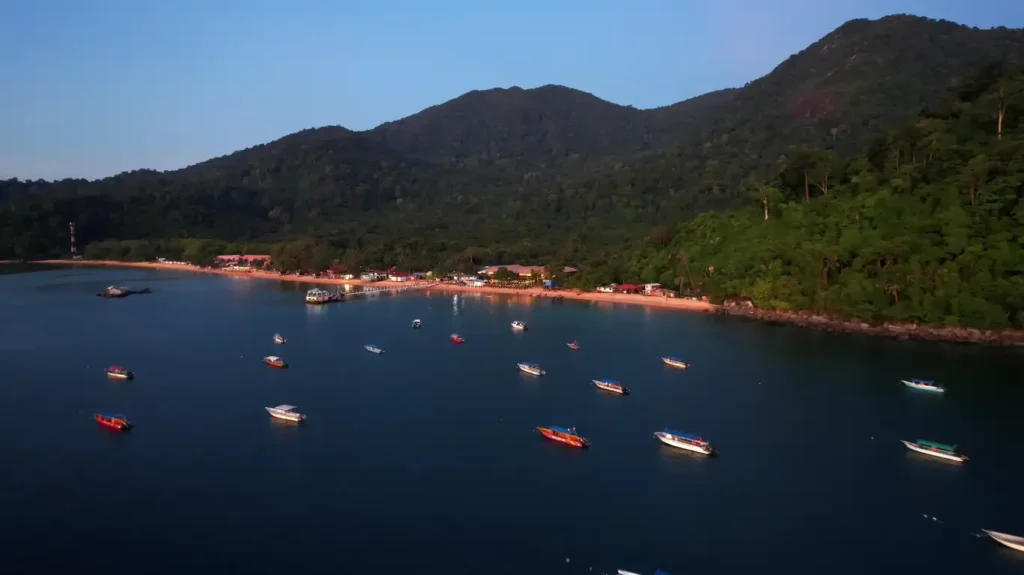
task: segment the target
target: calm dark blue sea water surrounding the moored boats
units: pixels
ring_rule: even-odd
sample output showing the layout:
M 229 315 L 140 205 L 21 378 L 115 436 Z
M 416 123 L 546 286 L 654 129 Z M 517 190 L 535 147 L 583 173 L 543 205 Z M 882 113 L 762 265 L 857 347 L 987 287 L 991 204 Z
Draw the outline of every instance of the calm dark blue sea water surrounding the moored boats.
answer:
M 154 294 L 94 297 L 109 284 Z M 1024 535 L 1020 351 L 437 293 L 310 307 L 305 289 L 0 275 L 0 571 L 1024 570 L 1024 554 L 976 536 Z M 264 366 L 268 354 L 291 368 Z M 666 354 L 694 366 L 665 367 Z M 136 380 L 108 381 L 110 364 Z M 949 392 L 905 389 L 909 377 Z M 263 407 L 280 403 L 306 425 L 270 421 Z M 96 410 L 137 428 L 108 433 Z M 593 446 L 534 431 L 549 425 Z M 651 434 L 666 426 L 720 456 L 663 447 Z M 972 459 L 899 443 L 916 438 Z

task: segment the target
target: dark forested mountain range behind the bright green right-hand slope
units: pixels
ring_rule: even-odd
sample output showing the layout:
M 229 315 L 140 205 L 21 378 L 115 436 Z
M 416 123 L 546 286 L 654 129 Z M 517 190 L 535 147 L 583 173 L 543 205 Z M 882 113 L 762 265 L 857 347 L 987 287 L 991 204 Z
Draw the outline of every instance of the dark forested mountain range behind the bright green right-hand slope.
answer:
M 80 245 L 312 236 L 374 265 L 600 261 L 651 228 L 749 203 L 767 181 L 809 194 L 811 170 L 843 173 L 844 157 L 1022 54 L 1021 30 L 852 20 L 742 88 L 662 108 L 559 86 L 485 90 L 172 172 L 8 180 L 0 257 L 62 253 L 75 221 Z

